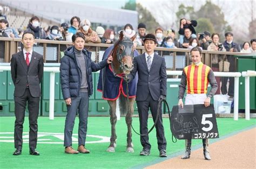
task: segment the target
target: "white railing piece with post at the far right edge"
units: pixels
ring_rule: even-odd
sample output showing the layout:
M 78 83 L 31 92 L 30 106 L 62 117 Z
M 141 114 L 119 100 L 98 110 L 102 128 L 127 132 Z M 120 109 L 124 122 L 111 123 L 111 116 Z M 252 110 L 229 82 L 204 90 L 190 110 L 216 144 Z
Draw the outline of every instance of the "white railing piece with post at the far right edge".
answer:
M 250 120 L 250 77 L 256 76 L 256 71 L 242 72 L 245 77 L 245 119 Z

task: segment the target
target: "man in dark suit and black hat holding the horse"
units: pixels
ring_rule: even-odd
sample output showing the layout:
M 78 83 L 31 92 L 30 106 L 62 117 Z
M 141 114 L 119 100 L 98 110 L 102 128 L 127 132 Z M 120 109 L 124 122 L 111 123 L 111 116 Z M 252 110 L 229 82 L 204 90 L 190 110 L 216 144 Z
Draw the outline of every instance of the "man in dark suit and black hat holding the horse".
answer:
M 167 75 L 165 59 L 154 53 L 156 46 L 156 37 L 151 33 L 147 34 L 144 39 L 146 52 L 134 58 L 134 68 L 128 77 L 129 81 L 131 81 L 138 72 L 136 102 L 139 112 L 140 134 L 143 135 L 140 136 L 140 143 L 143 146 L 140 156 L 149 155 L 151 149 L 149 135 L 147 134 L 149 108 L 153 121 L 156 121 L 158 102 L 166 98 Z M 156 124 L 159 156 L 167 157 L 161 110 L 159 113 Z

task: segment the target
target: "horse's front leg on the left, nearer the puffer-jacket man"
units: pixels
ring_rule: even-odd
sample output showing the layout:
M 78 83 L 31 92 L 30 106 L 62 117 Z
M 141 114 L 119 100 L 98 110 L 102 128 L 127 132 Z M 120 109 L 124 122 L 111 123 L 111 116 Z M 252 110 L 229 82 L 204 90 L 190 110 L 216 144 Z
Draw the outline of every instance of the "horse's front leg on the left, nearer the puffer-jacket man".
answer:
M 107 152 L 114 152 L 114 147 L 116 146 L 116 123 L 117 123 L 117 115 L 116 115 L 116 107 L 117 101 L 107 101 L 110 105 L 110 123 L 111 123 L 111 137 L 110 137 L 110 145 L 107 148 Z

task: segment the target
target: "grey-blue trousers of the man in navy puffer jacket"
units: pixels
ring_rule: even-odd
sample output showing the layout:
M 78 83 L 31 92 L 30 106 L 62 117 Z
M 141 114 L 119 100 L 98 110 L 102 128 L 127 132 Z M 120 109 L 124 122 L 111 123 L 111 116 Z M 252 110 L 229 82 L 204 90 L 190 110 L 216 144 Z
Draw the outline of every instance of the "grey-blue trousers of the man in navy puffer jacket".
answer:
M 64 129 L 64 146 L 72 146 L 72 133 L 75 124 L 75 118 L 78 110 L 78 146 L 85 145 L 87 133 L 89 94 L 87 92 L 78 92 L 78 97 L 71 97 L 71 105 L 67 105 L 68 114 L 66 115 Z

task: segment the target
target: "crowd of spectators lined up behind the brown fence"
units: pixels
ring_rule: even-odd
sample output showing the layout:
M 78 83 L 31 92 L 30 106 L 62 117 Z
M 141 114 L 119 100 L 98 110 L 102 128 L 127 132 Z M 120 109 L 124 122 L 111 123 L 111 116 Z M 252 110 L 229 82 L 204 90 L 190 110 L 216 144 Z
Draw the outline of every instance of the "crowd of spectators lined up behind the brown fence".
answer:
M 2 15 L 0 8 L 0 36 L 11 37 L 11 38 L 21 38 L 23 30 L 18 29 L 18 33 L 14 28 L 9 27 L 8 18 Z M 197 33 L 195 28 L 197 26 L 197 20 L 188 20 L 186 18 L 180 19 L 180 26 L 178 34 L 174 29 L 164 30 L 161 27 L 157 27 L 154 34 L 157 38 L 157 47 L 165 48 L 188 48 L 200 47 L 202 50 L 208 51 L 222 51 L 222 52 L 242 52 L 242 53 L 256 53 L 256 39 L 251 39 L 250 41 L 245 41 L 240 48 L 240 45 L 233 41 L 234 34 L 232 32 L 225 33 L 225 41 L 220 43 L 220 35 L 218 33 L 209 32 L 205 30 L 204 33 Z M 40 20 L 38 17 L 33 16 L 28 23 L 26 30 L 30 30 L 35 33 L 36 39 L 49 39 L 49 40 L 65 40 L 72 41 L 72 36 L 76 32 L 81 32 L 84 34 L 86 43 L 105 43 L 113 44 L 118 39 L 118 33 L 112 29 L 104 29 L 102 26 L 98 26 L 94 31 L 91 27 L 91 22 L 89 19 L 81 20 L 77 16 L 73 16 L 69 23 L 62 23 L 59 26 L 53 25 L 49 27 L 41 27 Z M 125 37 L 134 38 L 133 44 L 136 46 L 143 46 L 143 40 L 147 32 L 146 25 L 144 23 L 139 23 L 136 30 L 133 26 L 127 23 L 123 27 L 123 33 Z M 166 33 L 165 33 L 166 32 Z M 166 35 L 166 36 L 165 36 Z M 179 36 L 178 36 L 179 35 Z M 170 55 L 173 52 L 164 51 L 164 55 Z M 224 56 L 224 57 L 223 57 Z M 221 72 L 234 72 L 235 59 L 232 55 L 211 55 L 211 67 L 213 71 Z M 218 84 L 220 79 L 216 78 Z M 223 85 L 217 90 L 217 94 L 228 94 L 233 96 L 233 85 L 234 78 L 230 79 L 230 86 L 227 91 L 226 83 L 228 78 L 221 79 Z

